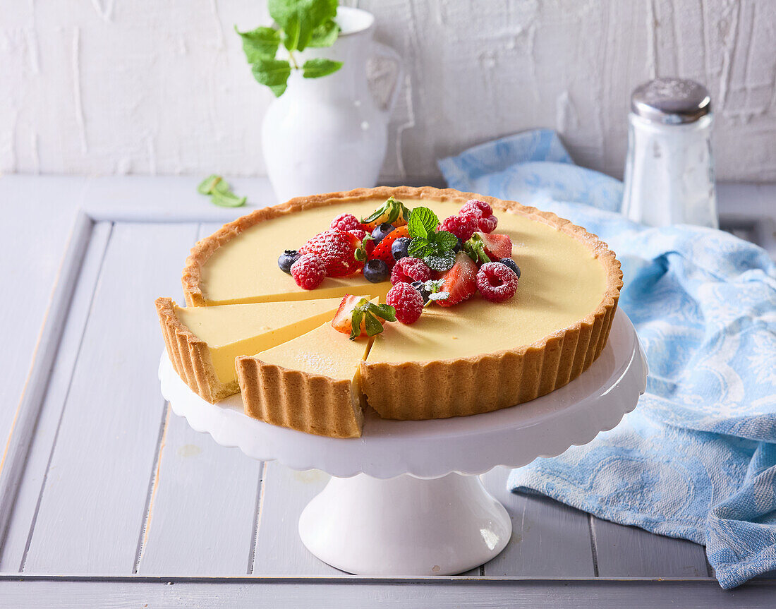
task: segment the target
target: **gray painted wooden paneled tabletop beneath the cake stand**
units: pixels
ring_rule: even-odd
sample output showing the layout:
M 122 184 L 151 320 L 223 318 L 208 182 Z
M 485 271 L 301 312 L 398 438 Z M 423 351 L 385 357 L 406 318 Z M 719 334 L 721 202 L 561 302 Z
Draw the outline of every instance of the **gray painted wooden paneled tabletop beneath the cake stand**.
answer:
M 264 180 L 234 184 L 273 202 Z M 508 493 L 499 469 L 483 479 L 514 533 L 473 573 L 389 580 L 319 562 L 296 520 L 327 476 L 222 448 L 159 392 L 154 298 L 181 301 L 189 247 L 248 210 L 210 206 L 191 178 L 0 185 L 0 606 L 776 603 L 776 580 L 724 592 L 701 546 Z M 776 186 L 723 185 L 720 199 L 742 234 L 772 232 L 747 218 L 774 213 Z

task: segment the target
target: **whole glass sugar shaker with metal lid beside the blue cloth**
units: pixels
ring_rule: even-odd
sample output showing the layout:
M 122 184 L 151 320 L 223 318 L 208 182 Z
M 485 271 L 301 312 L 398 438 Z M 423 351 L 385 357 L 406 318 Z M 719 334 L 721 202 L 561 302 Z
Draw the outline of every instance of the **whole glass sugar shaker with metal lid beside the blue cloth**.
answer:
M 657 78 L 631 96 L 622 213 L 653 227 L 719 228 L 712 101 L 703 85 Z

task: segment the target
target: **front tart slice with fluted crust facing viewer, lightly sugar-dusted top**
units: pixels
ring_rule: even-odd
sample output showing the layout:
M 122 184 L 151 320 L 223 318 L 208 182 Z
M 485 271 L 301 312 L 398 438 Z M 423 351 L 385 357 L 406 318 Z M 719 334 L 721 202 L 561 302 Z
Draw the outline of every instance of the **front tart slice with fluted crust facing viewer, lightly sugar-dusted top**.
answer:
M 367 337 L 348 340 L 327 323 L 237 358 L 245 413 L 308 434 L 358 438 L 364 420 L 359 364 L 371 344 Z

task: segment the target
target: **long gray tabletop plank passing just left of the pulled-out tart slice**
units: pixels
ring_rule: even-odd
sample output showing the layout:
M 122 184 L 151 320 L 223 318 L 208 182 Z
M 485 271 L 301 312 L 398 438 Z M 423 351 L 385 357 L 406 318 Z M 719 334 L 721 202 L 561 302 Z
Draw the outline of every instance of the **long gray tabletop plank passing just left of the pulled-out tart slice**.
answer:
M 178 284 L 189 224 L 116 224 L 24 569 L 131 573 L 165 413 L 156 296 Z

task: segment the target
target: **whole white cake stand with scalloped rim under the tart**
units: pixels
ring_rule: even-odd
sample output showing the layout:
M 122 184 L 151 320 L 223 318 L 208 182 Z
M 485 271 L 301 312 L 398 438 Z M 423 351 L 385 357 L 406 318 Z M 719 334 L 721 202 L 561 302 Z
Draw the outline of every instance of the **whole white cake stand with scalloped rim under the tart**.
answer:
M 159 366 L 161 393 L 196 431 L 262 461 L 334 476 L 304 508 L 300 537 L 331 566 L 371 576 L 452 575 L 494 558 L 511 521 L 477 475 L 559 455 L 615 427 L 636 407 L 646 372 L 636 331 L 618 310 L 598 360 L 547 396 L 473 417 L 367 415 L 362 438 L 345 440 L 251 419 L 239 395 L 207 403 L 166 353 Z

